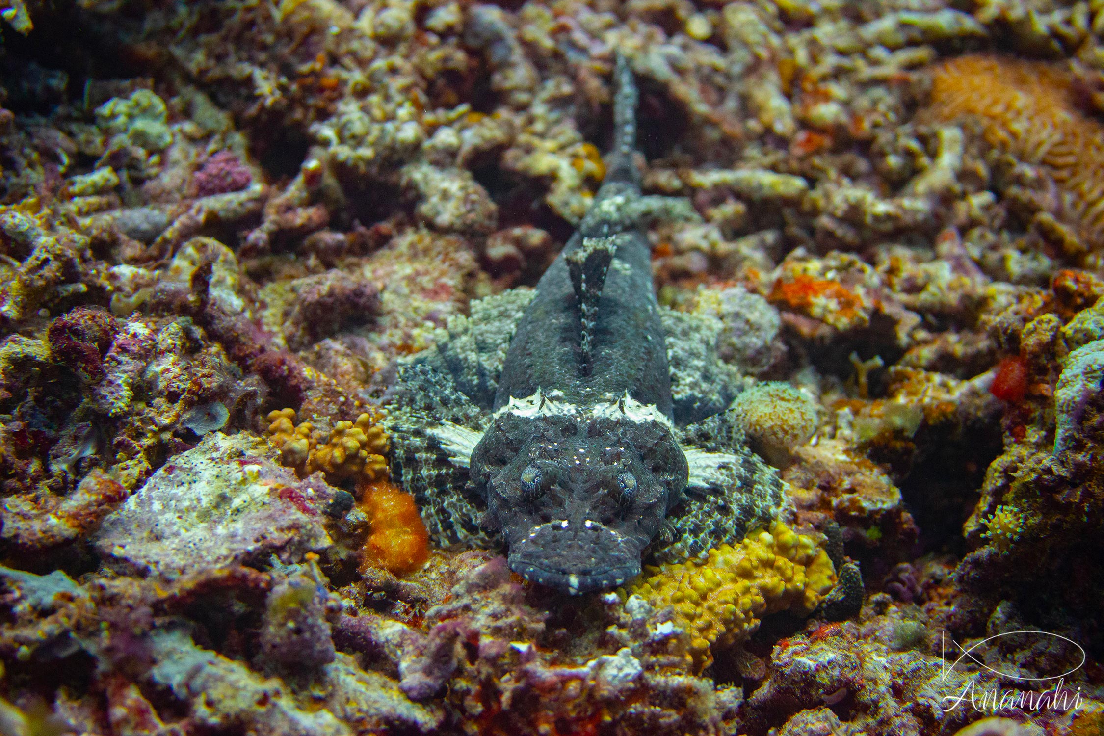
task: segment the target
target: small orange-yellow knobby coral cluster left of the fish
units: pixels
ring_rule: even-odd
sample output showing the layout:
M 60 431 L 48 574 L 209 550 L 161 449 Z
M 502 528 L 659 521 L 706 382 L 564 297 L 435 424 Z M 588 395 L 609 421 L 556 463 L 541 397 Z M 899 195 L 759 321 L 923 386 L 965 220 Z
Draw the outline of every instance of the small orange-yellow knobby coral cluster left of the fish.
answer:
M 371 482 L 388 477 L 384 456 L 390 442 L 371 414 L 361 414 L 357 422 L 338 422 L 325 444 L 320 444 L 314 425 L 295 424 L 295 409 L 270 412 L 268 422 L 265 435 L 279 448 L 282 462 L 304 474 L 320 470 L 330 482 Z

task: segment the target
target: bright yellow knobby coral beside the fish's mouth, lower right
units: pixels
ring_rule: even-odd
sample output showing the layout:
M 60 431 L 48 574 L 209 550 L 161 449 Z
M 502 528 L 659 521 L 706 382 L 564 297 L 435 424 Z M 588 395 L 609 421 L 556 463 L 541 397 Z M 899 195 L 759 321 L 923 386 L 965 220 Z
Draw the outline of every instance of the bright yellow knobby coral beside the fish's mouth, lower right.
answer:
M 836 569 L 813 537 L 774 522 L 736 546 L 710 550 L 702 563 L 649 567 L 623 594 L 672 606 L 675 625 L 690 634 L 690 653 L 704 669 L 711 647 L 745 641 L 768 614 L 811 614 L 834 585 Z

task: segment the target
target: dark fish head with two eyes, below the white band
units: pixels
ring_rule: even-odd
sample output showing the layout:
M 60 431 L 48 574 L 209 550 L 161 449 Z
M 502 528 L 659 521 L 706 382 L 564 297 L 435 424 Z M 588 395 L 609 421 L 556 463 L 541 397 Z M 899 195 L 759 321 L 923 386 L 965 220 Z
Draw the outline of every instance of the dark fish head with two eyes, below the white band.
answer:
M 488 522 L 509 565 L 572 594 L 622 585 L 687 483 L 687 460 L 660 422 L 586 414 L 500 415 L 471 455 Z

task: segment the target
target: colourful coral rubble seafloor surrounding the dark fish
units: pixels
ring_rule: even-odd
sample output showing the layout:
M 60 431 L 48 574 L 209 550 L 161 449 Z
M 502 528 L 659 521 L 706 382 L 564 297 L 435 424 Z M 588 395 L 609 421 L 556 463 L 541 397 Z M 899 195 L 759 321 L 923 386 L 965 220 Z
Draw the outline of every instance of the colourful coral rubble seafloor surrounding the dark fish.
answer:
M 1102 733 L 1101 0 L 0 17 L 0 734 Z M 785 495 L 572 597 L 427 534 L 388 401 L 585 213 L 615 50 Z

